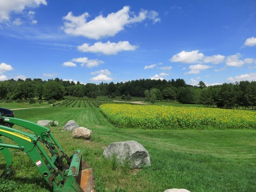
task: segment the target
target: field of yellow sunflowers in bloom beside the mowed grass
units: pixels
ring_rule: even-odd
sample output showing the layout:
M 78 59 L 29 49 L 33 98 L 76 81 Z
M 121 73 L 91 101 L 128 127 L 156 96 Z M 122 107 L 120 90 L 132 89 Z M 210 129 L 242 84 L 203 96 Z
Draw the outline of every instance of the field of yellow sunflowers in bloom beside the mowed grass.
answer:
M 142 129 L 256 129 L 256 113 L 200 107 L 103 104 L 100 111 L 118 127 Z

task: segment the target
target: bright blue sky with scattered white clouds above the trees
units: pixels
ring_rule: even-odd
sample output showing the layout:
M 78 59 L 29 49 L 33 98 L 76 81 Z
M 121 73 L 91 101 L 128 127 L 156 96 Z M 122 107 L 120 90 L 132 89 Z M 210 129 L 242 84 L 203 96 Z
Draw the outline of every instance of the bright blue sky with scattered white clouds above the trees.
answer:
M 256 81 L 256 1 L 0 0 L 0 81 Z

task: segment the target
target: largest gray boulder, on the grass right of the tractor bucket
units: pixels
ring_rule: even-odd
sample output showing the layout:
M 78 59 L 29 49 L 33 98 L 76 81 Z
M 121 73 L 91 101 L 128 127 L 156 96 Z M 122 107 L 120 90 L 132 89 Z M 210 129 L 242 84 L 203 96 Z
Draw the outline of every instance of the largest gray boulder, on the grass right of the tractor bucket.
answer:
M 117 158 L 121 165 L 129 159 L 131 169 L 151 165 L 148 151 L 136 141 L 110 143 L 103 151 L 103 156 L 106 158 Z

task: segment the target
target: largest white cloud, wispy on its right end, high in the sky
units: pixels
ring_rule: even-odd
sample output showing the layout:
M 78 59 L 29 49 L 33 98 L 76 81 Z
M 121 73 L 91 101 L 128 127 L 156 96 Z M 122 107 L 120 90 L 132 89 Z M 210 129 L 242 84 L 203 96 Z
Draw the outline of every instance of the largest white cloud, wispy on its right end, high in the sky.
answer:
M 160 21 L 158 13 L 155 11 L 142 10 L 138 15 L 130 11 L 129 6 L 124 6 L 123 9 L 110 13 L 107 17 L 99 15 L 91 21 L 87 21 L 89 13 L 85 12 L 82 15 L 74 16 L 69 12 L 63 17 L 65 33 L 74 36 L 84 36 L 92 39 L 99 39 L 102 37 L 113 37 L 124 27 L 132 23 L 142 22 L 143 20 L 150 19 L 154 23 Z

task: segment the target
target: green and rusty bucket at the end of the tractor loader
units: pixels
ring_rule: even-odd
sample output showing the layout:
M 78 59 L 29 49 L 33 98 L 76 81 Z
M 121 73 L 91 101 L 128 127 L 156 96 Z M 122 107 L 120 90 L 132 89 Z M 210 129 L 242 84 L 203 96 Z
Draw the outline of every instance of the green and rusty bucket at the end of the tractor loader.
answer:
M 74 151 L 62 191 L 93 192 L 93 169 L 82 161 L 81 150 Z

